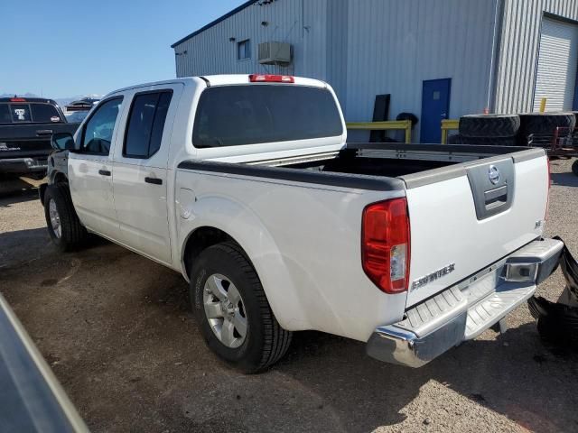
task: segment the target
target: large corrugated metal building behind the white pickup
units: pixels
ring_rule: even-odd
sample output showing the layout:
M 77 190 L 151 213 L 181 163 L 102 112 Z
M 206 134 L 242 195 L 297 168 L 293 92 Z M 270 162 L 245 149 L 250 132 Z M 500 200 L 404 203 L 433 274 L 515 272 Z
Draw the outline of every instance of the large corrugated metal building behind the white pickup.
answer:
M 291 44 L 291 62 L 259 62 L 259 44 Z M 255 0 L 172 45 L 177 77 L 280 73 L 328 81 L 348 121 L 439 122 L 491 112 L 578 109 L 578 0 Z M 361 137 L 358 135 L 359 139 Z

